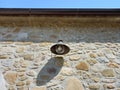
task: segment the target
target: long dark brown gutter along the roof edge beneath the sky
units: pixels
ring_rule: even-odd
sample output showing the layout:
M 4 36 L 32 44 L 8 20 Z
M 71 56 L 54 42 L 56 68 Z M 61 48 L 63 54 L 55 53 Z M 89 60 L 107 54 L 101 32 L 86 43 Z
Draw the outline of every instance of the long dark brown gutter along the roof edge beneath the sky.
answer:
M 0 16 L 120 16 L 120 9 L 0 8 Z

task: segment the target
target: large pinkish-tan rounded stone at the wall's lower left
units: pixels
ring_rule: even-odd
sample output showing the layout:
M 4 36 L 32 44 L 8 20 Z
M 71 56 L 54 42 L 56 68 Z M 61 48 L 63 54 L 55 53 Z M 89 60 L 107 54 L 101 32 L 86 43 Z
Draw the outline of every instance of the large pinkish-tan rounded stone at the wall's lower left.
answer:
M 12 71 L 8 71 L 5 74 L 5 79 L 6 79 L 7 83 L 9 83 L 10 85 L 15 84 L 15 82 L 17 80 L 17 73 L 12 72 Z

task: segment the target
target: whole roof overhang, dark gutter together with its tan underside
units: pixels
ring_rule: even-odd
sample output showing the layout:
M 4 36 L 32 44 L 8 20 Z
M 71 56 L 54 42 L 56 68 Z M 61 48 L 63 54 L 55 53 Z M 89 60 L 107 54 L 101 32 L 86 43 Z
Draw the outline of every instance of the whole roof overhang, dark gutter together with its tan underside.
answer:
M 120 9 L 0 9 L 0 26 L 119 28 Z

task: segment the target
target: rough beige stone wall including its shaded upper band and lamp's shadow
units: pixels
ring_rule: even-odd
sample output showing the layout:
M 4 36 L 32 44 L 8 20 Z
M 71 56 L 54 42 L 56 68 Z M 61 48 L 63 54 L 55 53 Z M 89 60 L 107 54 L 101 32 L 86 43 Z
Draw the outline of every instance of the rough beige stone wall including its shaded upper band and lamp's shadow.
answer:
M 1 26 L 0 63 L 8 90 L 120 90 L 120 30 Z

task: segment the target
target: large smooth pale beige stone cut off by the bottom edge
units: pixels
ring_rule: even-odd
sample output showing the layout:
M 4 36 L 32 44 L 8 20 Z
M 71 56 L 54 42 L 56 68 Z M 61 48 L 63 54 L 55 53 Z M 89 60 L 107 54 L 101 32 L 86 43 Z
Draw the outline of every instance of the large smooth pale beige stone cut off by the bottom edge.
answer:
M 67 84 L 66 84 L 65 90 L 84 90 L 84 87 L 80 82 L 80 80 L 78 80 L 75 77 L 68 78 L 66 83 Z

